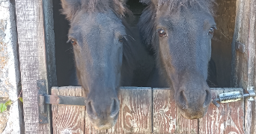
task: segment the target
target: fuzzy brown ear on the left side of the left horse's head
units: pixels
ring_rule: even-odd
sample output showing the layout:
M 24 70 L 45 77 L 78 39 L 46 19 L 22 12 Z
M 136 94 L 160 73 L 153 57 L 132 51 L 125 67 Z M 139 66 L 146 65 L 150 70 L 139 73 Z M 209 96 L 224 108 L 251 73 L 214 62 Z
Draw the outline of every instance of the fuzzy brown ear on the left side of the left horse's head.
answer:
M 61 0 L 62 10 L 61 13 L 66 15 L 70 21 L 75 16 L 76 12 L 81 9 L 81 0 Z

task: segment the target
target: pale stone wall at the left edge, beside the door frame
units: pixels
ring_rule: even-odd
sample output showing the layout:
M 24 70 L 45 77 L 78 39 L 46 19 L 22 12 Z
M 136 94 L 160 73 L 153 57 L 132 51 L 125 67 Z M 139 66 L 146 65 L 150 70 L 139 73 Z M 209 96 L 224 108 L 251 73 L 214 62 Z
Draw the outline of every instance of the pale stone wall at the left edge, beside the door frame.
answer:
M 22 133 L 22 104 L 14 0 L 0 0 L 0 103 L 14 101 L 0 113 L 0 133 Z

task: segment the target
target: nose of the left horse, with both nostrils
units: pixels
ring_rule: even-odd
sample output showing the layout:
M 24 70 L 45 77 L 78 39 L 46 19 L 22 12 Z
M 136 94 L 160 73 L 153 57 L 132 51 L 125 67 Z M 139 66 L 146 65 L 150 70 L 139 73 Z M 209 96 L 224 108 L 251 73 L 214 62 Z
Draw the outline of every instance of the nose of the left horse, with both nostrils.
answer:
M 86 104 L 86 112 L 88 113 L 89 117 L 96 122 L 108 122 L 111 121 L 112 118 L 118 116 L 120 109 L 118 98 L 113 98 L 109 101 L 110 102 L 107 102 L 107 100 L 105 100 L 105 102 L 88 100 Z

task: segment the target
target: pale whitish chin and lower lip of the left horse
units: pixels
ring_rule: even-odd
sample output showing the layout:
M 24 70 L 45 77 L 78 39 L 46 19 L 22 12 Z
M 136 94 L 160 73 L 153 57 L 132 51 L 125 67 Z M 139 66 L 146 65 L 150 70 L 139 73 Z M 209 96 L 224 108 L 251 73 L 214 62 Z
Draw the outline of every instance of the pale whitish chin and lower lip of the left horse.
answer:
M 99 118 L 91 118 L 88 116 L 89 120 L 91 121 L 91 124 L 94 126 L 95 129 L 97 130 L 107 130 L 115 126 L 115 124 L 118 121 L 118 115 L 115 115 L 113 118 L 104 118 L 104 119 L 99 119 Z

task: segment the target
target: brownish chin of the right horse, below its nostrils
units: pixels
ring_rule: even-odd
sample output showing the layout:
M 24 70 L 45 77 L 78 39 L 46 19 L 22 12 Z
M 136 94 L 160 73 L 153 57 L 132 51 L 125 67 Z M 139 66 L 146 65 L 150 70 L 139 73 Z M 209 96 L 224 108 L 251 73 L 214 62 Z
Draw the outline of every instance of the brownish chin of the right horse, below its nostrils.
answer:
M 204 115 L 207 112 L 208 106 L 205 107 L 204 109 L 202 109 L 201 111 L 193 111 L 189 110 L 189 109 L 181 109 L 180 107 L 178 107 L 180 115 L 182 115 L 184 118 L 187 119 L 198 119 L 198 118 L 203 118 Z

